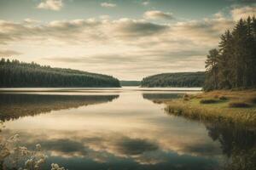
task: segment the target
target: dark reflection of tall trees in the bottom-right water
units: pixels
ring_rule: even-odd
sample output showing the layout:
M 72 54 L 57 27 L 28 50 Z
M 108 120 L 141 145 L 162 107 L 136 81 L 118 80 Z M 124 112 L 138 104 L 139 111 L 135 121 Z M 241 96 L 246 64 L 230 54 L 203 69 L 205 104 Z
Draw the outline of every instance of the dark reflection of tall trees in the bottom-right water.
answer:
M 212 140 L 218 140 L 230 158 L 224 169 L 256 169 L 256 129 L 235 124 L 205 123 Z

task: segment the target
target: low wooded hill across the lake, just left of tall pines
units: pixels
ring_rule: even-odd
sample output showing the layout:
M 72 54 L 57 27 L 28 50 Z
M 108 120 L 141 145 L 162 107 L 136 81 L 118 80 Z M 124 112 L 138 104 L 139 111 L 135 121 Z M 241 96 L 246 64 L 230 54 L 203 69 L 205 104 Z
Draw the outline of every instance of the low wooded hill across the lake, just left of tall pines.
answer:
M 163 73 L 143 78 L 142 87 L 202 87 L 205 72 Z

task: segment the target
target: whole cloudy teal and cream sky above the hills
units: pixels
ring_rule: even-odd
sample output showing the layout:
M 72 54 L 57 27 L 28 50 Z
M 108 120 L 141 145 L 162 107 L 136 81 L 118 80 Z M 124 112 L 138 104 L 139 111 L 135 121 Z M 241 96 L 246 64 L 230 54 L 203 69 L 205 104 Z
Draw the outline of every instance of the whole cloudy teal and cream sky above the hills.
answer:
M 204 71 L 256 0 L 0 0 L 0 57 L 141 80 Z

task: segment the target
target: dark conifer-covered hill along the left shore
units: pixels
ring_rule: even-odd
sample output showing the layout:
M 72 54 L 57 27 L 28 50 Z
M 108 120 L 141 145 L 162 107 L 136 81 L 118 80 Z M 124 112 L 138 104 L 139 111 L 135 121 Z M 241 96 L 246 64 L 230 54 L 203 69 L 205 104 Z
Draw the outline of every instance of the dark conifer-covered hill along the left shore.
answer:
M 0 87 L 119 87 L 119 80 L 102 74 L 51 68 L 34 62 L 1 59 Z

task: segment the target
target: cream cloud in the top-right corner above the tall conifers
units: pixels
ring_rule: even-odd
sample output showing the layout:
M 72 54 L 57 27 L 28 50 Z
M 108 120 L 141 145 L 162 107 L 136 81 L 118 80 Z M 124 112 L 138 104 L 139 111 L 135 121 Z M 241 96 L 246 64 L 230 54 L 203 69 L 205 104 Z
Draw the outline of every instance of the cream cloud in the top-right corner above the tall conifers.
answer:
M 256 16 L 256 5 L 235 7 L 230 11 L 233 20 L 247 19 L 248 16 Z

